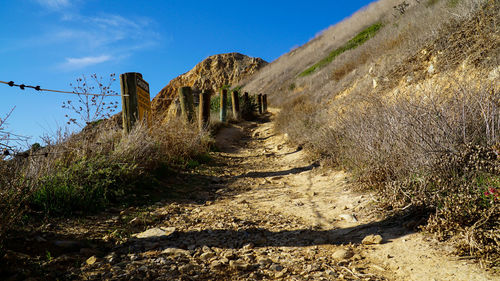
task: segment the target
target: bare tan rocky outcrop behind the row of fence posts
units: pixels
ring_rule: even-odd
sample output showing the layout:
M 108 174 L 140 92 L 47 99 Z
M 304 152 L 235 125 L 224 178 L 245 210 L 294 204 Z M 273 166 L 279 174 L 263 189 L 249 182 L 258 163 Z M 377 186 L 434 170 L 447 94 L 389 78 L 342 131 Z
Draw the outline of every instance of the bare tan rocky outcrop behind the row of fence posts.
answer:
M 260 58 L 252 58 L 239 53 L 208 57 L 189 72 L 170 81 L 156 95 L 152 102 L 153 113 L 160 118 L 167 116 L 169 107 L 178 100 L 177 89 L 179 87 L 190 86 L 196 90 L 217 91 L 224 85 L 236 85 L 266 64 L 267 62 Z

